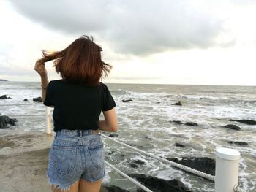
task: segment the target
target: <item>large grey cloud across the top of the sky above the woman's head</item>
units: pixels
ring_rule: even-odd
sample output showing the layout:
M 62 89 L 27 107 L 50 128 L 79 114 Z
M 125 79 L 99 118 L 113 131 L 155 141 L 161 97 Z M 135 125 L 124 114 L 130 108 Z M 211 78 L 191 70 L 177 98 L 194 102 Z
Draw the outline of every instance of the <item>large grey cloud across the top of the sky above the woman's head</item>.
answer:
M 172 49 L 216 46 L 224 20 L 222 1 L 10 0 L 22 15 L 68 34 L 93 34 L 116 53 L 147 55 Z M 192 3 L 193 2 L 193 3 Z M 217 46 L 228 46 L 219 44 Z

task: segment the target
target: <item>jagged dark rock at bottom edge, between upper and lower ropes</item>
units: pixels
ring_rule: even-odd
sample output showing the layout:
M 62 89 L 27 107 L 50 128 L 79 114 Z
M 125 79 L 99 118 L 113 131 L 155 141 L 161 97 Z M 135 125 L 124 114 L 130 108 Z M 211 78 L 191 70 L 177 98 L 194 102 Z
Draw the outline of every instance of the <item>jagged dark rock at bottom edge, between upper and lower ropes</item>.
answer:
M 179 180 L 163 180 L 157 177 L 146 176 L 144 174 L 129 174 L 130 177 L 135 178 L 140 183 L 143 183 L 147 188 L 154 192 L 189 192 L 184 183 Z M 142 189 L 137 191 L 142 192 Z M 191 191 L 190 191 L 191 192 Z

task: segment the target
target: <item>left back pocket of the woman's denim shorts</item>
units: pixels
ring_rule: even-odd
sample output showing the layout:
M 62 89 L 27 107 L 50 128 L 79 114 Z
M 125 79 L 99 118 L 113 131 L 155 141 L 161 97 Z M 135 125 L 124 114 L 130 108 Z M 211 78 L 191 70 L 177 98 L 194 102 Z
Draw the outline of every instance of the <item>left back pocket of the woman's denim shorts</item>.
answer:
M 76 147 L 55 146 L 52 147 L 53 166 L 60 175 L 68 174 L 77 164 Z

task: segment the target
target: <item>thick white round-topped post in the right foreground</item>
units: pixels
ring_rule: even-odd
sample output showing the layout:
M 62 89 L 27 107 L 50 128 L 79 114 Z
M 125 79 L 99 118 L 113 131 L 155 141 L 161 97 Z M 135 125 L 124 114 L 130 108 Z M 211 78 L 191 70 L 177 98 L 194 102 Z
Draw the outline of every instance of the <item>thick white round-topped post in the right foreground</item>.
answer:
M 238 168 L 240 153 L 238 150 L 217 148 L 215 192 L 233 192 L 238 185 Z

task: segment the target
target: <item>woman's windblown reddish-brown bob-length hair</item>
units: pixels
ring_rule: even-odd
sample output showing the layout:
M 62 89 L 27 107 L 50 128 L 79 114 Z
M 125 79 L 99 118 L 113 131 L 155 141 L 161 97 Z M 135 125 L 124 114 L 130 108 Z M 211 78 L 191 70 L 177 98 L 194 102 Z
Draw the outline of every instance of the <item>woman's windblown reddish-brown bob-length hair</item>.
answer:
M 43 60 L 55 59 L 53 66 L 64 80 L 90 86 L 99 85 L 102 75 L 107 77 L 112 66 L 102 61 L 102 48 L 93 40 L 92 36 L 83 35 L 64 50 L 53 53 L 43 50 Z

